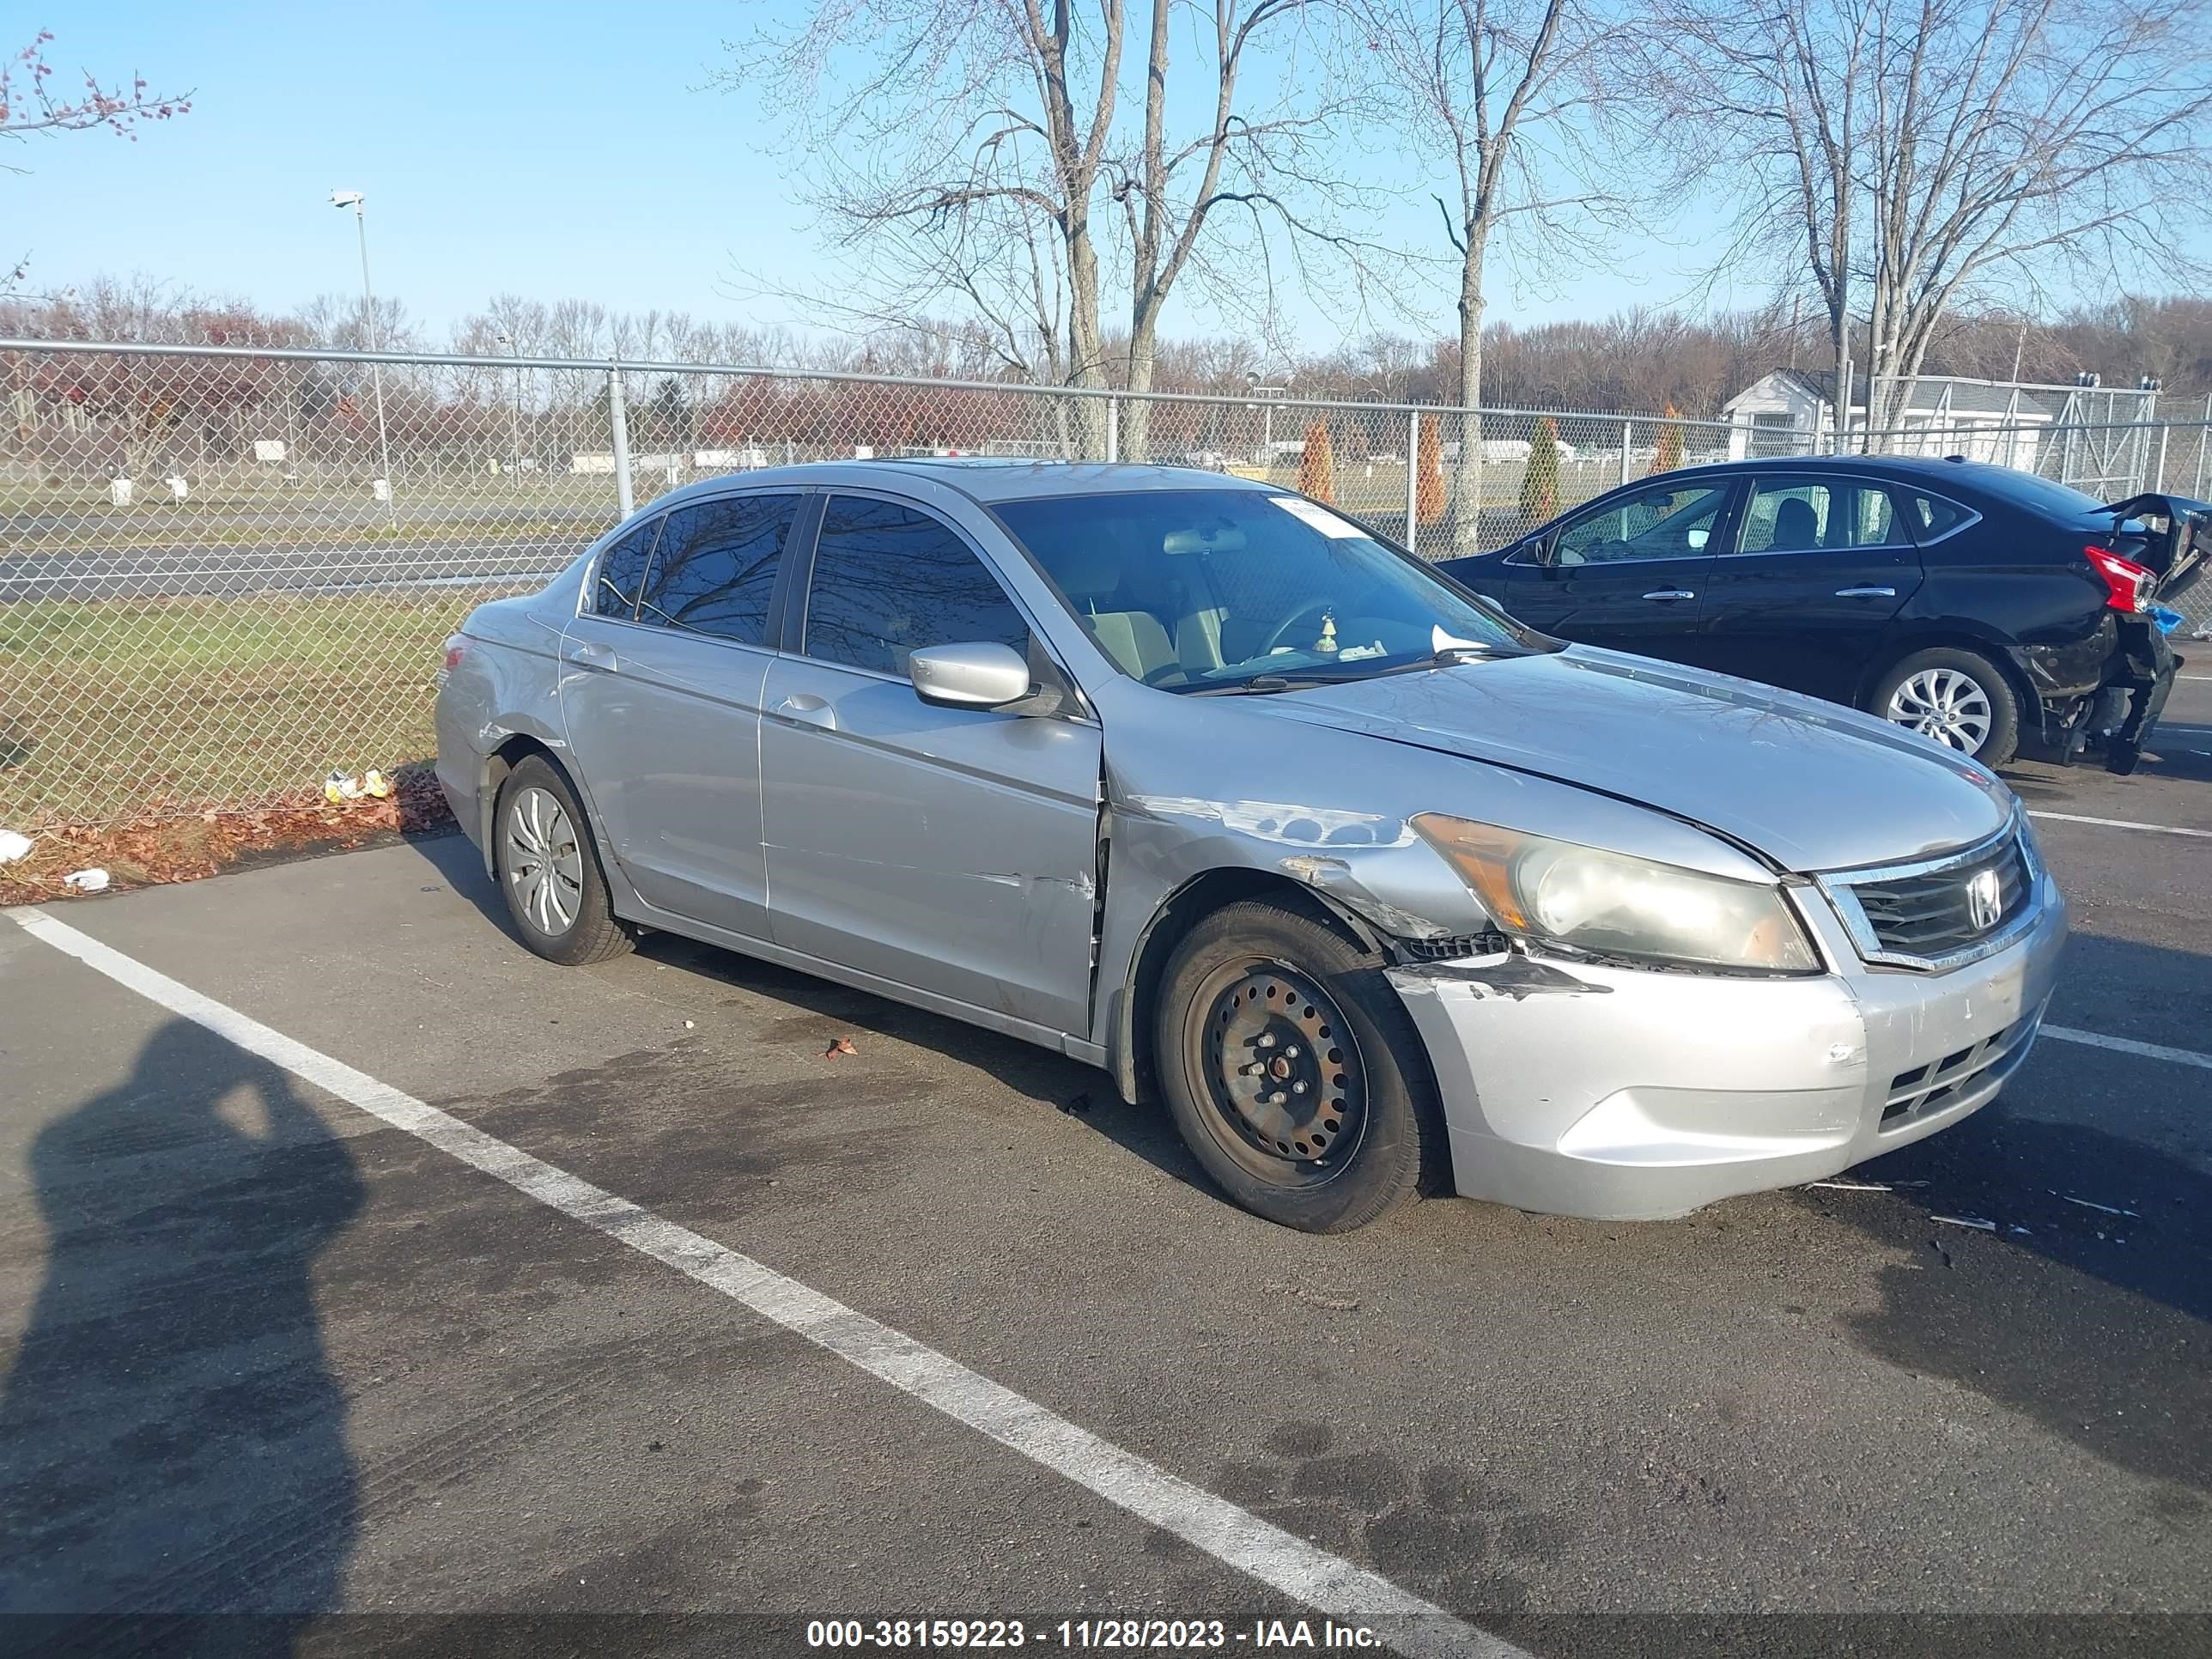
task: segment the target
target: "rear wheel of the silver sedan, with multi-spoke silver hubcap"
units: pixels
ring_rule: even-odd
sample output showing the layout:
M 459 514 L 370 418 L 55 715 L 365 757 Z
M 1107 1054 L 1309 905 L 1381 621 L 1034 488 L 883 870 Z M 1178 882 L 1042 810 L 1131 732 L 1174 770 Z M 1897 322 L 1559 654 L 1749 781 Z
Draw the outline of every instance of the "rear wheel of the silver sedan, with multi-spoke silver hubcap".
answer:
M 500 785 L 491 847 L 507 914 L 546 962 L 584 967 L 630 949 L 606 898 L 591 821 L 542 754 L 526 757 Z

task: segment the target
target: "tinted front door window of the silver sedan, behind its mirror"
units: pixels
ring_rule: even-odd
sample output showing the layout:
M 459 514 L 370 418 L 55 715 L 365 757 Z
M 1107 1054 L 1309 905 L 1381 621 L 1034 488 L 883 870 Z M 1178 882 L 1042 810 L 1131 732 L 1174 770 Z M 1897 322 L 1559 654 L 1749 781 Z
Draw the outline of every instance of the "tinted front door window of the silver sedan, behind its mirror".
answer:
M 914 507 L 832 495 L 807 591 L 807 655 L 902 675 L 922 646 L 973 639 L 1029 650 L 1029 624 L 967 542 Z

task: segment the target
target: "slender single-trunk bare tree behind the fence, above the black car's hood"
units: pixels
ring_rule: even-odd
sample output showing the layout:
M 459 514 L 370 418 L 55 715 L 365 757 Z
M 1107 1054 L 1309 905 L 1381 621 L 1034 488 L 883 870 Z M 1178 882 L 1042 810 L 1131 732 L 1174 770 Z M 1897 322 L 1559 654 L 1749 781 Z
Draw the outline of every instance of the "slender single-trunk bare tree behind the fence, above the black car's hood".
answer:
M 1601 0 L 1352 0 L 1367 46 L 1402 111 L 1418 159 L 1442 157 L 1444 217 L 1458 274 L 1460 374 L 1453 400 L 1482 405 L 1482 319 L 1491 243 L 1524 252 L 1575 248 L 1593 217 L 1624 206 L 1604 148 L 1621 91 L 1617 18 Z M 1637 168 L 1657 186 L 1648 164 Z M 1462 418 L 1451 540 L 1478 546 L 1482 427 Z

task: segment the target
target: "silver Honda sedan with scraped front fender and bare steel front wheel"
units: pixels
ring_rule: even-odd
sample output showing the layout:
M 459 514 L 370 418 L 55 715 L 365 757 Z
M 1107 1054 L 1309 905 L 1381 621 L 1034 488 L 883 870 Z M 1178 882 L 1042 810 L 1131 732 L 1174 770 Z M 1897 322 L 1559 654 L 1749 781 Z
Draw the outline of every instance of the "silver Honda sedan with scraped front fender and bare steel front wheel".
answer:
M 1978 763 L 1214 473 L 695 484 L 480 606 L 440 686 L 540 956 L 664 929 L 1026 1037 L 1314 1232 L 1834 1175 L 2004 1086 L 2066 933 Z

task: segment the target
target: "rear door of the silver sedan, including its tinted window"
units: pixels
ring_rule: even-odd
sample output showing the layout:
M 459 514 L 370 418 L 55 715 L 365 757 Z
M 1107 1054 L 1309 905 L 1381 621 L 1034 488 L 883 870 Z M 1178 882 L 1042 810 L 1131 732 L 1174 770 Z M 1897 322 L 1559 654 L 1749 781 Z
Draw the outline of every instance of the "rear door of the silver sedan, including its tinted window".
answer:
M 648 905 L 768 938 L 761 690 L 783 551 L 814 498 L 710 495 L 664 515 L 633 606 L 564 641 L 562 719 L 591 807 Z

